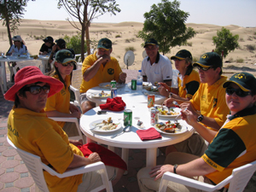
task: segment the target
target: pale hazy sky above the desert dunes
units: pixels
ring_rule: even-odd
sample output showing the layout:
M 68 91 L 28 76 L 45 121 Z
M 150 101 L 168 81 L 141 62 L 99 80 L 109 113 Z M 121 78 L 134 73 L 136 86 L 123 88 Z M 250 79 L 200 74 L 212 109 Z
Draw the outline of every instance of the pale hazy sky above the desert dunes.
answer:
M 143 22 L 143 14 L 160 0 L 116 0 L 121 12 L 102 15 L 93 22 L 119 23 Z M 218 26 L 256 26 L 256 0 L 179 0 L 180 9 L 189 12 L 187 23 L 213 24 Z M 24 19 L 66 20 L 65 9 L 57 9 L 57 0 L 29 1 Z

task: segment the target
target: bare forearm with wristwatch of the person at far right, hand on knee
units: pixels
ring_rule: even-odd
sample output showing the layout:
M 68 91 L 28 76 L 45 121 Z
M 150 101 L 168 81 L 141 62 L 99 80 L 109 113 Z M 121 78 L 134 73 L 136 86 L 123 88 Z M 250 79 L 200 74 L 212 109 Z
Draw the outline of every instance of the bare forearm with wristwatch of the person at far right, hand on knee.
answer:
M 198 158 L 196 160 L 192 160 L 187 164 L 177 166 L 176 172 L 178 175 L 182 175 L 184 177 L 195 177 L 195 176 L 203 176 L 211 172 L 215 172 L 216 170 L 209 166 L 204 160 Z M 151 177 L 154 177 L 154 180 L 159 179 L 163 176 L 165 172 L 173 172 L 172 165 L 164 165 L 164 166 L 154 166 L 152 171 L 149 172 Z

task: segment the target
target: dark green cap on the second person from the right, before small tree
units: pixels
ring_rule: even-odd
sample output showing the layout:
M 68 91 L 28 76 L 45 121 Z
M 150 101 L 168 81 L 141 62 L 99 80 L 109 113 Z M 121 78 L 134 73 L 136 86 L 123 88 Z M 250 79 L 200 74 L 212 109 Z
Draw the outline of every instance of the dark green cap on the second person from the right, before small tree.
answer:
M 220 56 L 215 52 L 208 52 L 201 55 L 199 61 L 193 63 L 193 67 L 222 67 L 222 60 Z

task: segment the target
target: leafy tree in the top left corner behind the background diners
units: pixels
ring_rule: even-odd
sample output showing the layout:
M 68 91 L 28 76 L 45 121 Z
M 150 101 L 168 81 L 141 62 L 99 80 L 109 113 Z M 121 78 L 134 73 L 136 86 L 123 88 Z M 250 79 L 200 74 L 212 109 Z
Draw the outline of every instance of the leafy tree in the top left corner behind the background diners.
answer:
M 20 18 L 25 11 L 26 3 L 29 0 L 0 0 L 0 20 L 6 26 L 10 46 L 13 44 L 11 32 L 20 26 Z M 34 0 L 32 0 L 34 1 Z

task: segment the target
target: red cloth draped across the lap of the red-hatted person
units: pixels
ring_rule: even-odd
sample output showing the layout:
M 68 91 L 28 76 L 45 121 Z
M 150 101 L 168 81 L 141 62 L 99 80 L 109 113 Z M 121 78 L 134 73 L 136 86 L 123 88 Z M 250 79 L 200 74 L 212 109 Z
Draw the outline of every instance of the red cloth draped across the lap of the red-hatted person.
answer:
M 96 152 L 100 155 L 102 162 L 106 166 L 115 166 L 120 169 L 127 170 L 127 165 L 122 158 L 119 157 L 118 154 L 113 153 L 113 151 L 108 150 L 108 148 L 104 148 L 101 145 L 96 143 L 87 143 L 84 145 L 77 146 L 80 151 L 84 154 L 84 157 L 89 157 L 90 154 Z

